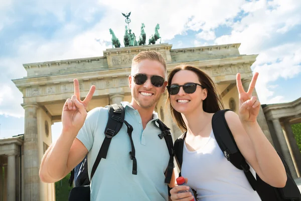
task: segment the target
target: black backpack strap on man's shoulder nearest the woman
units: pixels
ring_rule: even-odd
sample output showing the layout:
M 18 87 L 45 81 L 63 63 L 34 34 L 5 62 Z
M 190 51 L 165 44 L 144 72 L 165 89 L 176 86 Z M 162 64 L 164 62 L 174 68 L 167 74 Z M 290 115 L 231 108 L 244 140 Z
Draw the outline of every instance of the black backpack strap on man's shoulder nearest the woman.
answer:
M 172 180 L 172 175 L 173 175 L 173 170 L 174 170 L 174 145 L 173 145 L 173 138 L 172 134 L 170 132 L 170 128 L 168 128 L 161 120 L 157 120 L 157 123 L 159 124 L 159 128 L 162 131 L 161 134 L 158 136 L 160 139 L 164 138 L 168 152 L 170 154 L 170 159 L 168 162 L 168 166 L 166 169 L 166 178 L 165 178 L 165 183 L 170 183 Z

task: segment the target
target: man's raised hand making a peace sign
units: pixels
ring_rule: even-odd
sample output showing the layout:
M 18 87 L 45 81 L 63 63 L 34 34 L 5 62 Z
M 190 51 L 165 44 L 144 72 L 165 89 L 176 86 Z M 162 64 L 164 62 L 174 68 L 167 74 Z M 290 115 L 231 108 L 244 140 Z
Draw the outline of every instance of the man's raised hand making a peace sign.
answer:
M 77 135 L 78 131 L 84 125 L 87 117 L 87 106 L 92 99 L 95 86 L 92 85 L 89 93 L 83 101 L 80 100 L 79 83 L 77 79 L 73 80 L 74 95 L 68 98 L 63 107 L 62 124 L 63 132 L 71 132 Z M 75 136 L 74 136 L 75 137 Z

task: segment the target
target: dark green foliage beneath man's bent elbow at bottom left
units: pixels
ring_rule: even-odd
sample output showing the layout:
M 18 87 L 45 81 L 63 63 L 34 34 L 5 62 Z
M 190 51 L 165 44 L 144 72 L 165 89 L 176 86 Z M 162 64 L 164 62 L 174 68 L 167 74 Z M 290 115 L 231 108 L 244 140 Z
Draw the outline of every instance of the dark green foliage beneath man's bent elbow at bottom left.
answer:
M 55 199 L 56 201 L 68 200 L 69 192 L 72 186 L 69 185 L 70 173 L 67 174 L 62 180 L 55 182 Z

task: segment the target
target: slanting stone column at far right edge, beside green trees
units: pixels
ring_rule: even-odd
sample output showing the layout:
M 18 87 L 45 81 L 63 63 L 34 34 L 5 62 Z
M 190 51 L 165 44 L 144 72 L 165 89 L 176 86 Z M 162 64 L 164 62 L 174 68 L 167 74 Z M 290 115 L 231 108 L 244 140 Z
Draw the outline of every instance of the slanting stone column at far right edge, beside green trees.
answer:
M 294 158 L 295 166 L 296 166 L 296 171 L 300 175 L 300 170 L 301 170 L 301 153 L 299 151 L 296 139 L 294 138 L 293 132 L 291 130 L 289 122 L 284 122 L 284 129 L 286 133 L 286 137 L 288 139 L 288 143 Z

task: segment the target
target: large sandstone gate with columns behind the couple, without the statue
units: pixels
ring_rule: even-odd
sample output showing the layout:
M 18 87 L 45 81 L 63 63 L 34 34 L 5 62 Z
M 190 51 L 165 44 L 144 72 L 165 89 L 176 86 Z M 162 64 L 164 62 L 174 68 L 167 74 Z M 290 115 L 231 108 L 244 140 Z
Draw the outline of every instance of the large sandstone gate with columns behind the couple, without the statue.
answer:
M 239 45 L 173 50 L 170 44 L 145 45 L 107 49 L 103 51 L 101 57 L 24 64 L 27 77 L 13 80 L 24 97 L 22 104 L 25 110 L 24 185 L 22 186 L 24 199 L 54 200 L 54 184 L 41 182 L 39 166 L 45 150 L 52 143 L 51 125 L 61 121 L 63 104 L 73 95 L 74 78 L 79 80 L 81 98 L 85 97 L 91 85 L 96 86 L 88 111 L 108 104 L 119 104 L 122 100 L 130 102 L 128 75 L 131 60 L 140 51 L 155 50 L 165 57 L 168 72 L 185 62 L 208 73 L 217 83 L 223 102 L 228 108 L 229 98 L 234 97 L 238 103 L 238 95 L 234 87 L 236 73 L 240 72 L 245 85 L 248 85 L 252 77 L 250 66 L 257 56 L 240 55 Z M 158 112 L 161 105 L 158 105 Z M 174 130 L 174 138 L 177 138 L 180 132 L 169 112 L 165 111 L 163 115 L 165 123 Z M 263 113 L 259 118 L 264 119 Z M 259 124 L 270 140 L 266 122 L 259 121 Z

